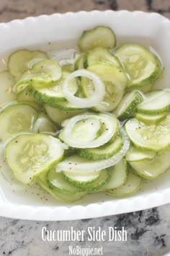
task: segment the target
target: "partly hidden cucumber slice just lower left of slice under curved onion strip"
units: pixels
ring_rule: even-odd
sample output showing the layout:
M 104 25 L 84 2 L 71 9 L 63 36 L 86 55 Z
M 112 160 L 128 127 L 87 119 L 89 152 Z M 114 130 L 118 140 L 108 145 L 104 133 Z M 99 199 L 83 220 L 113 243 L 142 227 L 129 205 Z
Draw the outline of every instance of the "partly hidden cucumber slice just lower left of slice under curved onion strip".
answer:
M 47 181 L 50 187 L 53 187 L 61 193 L 73 195 L 81 192 L 79 188 L 73 186 L 66 180 L 63 172 L 55 172 L 55 169 L 50 169 L 47 175 Z

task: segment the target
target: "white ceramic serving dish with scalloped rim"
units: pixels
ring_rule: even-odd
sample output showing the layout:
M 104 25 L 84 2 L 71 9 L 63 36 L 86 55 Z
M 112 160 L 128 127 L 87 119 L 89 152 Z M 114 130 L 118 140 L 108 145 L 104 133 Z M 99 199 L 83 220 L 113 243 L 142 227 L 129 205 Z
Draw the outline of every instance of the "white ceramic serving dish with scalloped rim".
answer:
M 56 45 L 71 48 L 83 30 L 96 25 L 112 27 L 117 35 L 117 45 L 140 43 L 153 47 L 165 66 L 164 75 L 156 82 L 156 87 L 169 87 L 170 21 L 155 13 L 69 12 L 1 23 L 1 58 L 6 60 L 9 53 L 21 48 L 50 50 Z M 4 61 L 0 68 L 5 68 Z M 167 172 L 145 183 L 139 193 L 129 198 L 115 199 L 104 193 L 94 193 L 73 204 L 61 203 L 37 190 L 12 193 L 1 185 L 0 215 L 17 219 L 61 221 L 139 211 L 170 202 L 169 180 L 170 172 Z

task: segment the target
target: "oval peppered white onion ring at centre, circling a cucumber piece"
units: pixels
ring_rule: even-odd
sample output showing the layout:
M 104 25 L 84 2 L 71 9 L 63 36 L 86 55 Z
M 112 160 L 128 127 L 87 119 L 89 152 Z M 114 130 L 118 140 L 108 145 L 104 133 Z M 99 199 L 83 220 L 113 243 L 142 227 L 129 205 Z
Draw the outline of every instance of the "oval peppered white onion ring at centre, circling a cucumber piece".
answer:
M 79 122 L 80 120 L 84 120 L 86 118 L 94 118 L 106 126 L 106 130 L 99 136 L 99 138 L 94 139 L 94 141 L 81 141 L 80 138 L 74 138 L 72 134 L 73 126 Z M 65 121 L 65 127 L 63 128 L 63 141 L 69 146 L 73 146 L 75 148 L 86 149 L 86 148 L 97 148 L 98 146 L 102 146 L 106 144 L 110 138 L 114 135 L 115 131 L 117 131 L 117 120 L 114 115 L 112 115 L 112 120 L 104 115 L 76 115 L 70 120 Z M 115 119 L 115 120 L 114 120 Z

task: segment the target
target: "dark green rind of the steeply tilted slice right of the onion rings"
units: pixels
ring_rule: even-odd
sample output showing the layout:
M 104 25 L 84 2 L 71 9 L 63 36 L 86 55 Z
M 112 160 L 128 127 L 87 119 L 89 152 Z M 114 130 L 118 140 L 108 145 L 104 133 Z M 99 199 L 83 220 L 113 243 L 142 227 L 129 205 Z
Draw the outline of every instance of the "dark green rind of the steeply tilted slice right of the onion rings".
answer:
M 124 112 L 122 112 L 121 115 L 119 115 L 117 118 L 120 121 L 123 121 L 127 118 L 129 118 L 130 116 L 133 115 L 133 113 L 135 112 L 135 110 L 137 109 L 138 104 L 140 104 L 140 102 L 143 102 L 143 97 L 142 95 L 138 94 L 138 96 L 136 97 L 135 100 L 133 100 L 133 102 L 131 102 L 130 105 L 128 105 L 128 107 L 126 108 L 126 110 Z M 121 103 L 121 102 L 120 102 Z

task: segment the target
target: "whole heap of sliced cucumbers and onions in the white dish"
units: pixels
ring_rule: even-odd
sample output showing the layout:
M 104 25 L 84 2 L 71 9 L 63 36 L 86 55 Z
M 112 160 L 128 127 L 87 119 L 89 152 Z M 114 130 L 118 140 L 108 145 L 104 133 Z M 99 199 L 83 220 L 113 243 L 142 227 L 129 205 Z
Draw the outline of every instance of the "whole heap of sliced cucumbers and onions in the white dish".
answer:
M 71 203 L 101 191 L 132 195 L 164 174 L 170 89 L 153 89 L 162 72 L 153 51 L 116 45 L 104 26 L 84 31 L 77 48 L 53 58 L 13 52 L 0 73 L 0 141 L 16 184 L 40 185 Z

